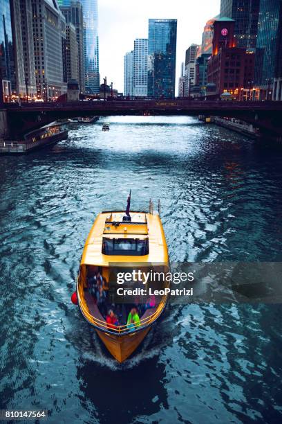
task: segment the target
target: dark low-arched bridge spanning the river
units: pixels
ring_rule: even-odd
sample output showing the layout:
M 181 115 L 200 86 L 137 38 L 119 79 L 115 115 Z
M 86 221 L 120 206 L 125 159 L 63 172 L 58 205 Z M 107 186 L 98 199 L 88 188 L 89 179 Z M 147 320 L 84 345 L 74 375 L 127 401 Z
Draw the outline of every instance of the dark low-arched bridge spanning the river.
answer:
M 282 102 L 169 99 L 100 99 L 66 103 L 8 103 L 5 105 L 12 136 L 57 119 L 76 116 L 186 115 L 228 116 L 252 123 L 261 132 L 282 135 Z

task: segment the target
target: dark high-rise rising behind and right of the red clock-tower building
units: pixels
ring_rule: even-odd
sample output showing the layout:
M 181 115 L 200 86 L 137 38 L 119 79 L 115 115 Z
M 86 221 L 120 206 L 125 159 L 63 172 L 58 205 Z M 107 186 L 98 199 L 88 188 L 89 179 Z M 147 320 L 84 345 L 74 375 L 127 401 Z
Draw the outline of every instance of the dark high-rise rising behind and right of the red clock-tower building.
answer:
M 256 48 L 260 0 L 221 0 L 220 17 L 234 19 L 236 45 Z

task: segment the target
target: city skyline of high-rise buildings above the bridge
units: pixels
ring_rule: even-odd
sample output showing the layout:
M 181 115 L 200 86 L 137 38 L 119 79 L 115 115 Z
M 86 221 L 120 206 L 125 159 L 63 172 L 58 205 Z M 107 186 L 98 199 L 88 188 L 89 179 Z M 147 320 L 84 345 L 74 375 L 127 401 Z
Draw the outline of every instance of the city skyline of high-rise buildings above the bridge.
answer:
M 104 43 L 101 51 L 109 60 L 103 61 L 102 68 L 109 82 L 106 91 L 110 90 L 111 96 L 118 96 L 119 91 L 126 96 L 173 97 L 178 90 L 182 96 L 192 98 L 281 98 L 282 0 L 261 0 L 259 12 L 259 0 L 245 0 L 245 6 L 241 0 L 221 0 L 218 15 L 214 8 L 219 0 L 214 0 L 209 5 L 212 11 L 205 8 L 205 13 L 215 16 L 201 25 L 198 21 L 203 16 L 195 7 L 185 13 L 183 0 L 176 0 L 173 9 L 165 6 L 161 13 L 154 9 L 158 1 L 143 8 L 142 13 L 132 8 L 125 11 L 128 0 L 109 13 L 106 7 L 111 1 L 1 0 L 1 87 L 5 101 L 15 101 L 17 96 L 56 100 L 67 95 L 68 81 L 79 83 L 81 94 L 104 93 L 99 83 L 100 3 L 104 10 L 100 21 L 100 39 Z M 62 7 L 63 4 L 68 6 Z M 193 23 L 187 24 L 191 16 Z M 139 28 L 144 26 L 146 36 L 133 37 L 133 50 L 124 52 L 129 33 L 140 33 Z M 247 33 L 243 28 L 247 28 Z M 111 39 L 107 40 L 109 34 Z M 228 48 L 234 50 L 228 52 Z M 219 69 L 218 58 L 225 54 L 225 69 L 223 64 Z M 182 62 L 185 64 L 181 70 Z M 120 83 L 120 75 L 124 84 Z

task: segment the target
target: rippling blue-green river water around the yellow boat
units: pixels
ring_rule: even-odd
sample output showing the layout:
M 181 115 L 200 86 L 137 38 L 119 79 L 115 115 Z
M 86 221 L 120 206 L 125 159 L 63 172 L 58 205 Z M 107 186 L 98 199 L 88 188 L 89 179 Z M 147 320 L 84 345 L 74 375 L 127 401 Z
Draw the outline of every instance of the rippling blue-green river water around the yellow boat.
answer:
M 95 214 L 130 188 L 134 209 L 160 198 L 171 260 L 282 261 L 281 150 L 189 117 L 72 125 L 53 148 L 0 157 L 0 409 L 281 422 L 280 305 L 168 306 L 118 364 L 70 302 Z

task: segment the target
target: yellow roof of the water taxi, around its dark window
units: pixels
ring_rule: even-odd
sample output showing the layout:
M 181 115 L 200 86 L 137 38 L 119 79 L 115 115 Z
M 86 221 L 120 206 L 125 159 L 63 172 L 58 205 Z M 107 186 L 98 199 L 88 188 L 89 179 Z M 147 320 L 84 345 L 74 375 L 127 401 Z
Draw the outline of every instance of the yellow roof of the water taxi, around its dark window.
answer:
M 168 263 L 167 242 L 158 213 L 131 211 L 131 221 L 123 221 L 124 211 L 106 211 L 97 215 L 85 243 L 81 265 L 109 266 L 109 263 Z M 149 239 L 149 254 L 119 256 L 102 254 L 102 239 Z

